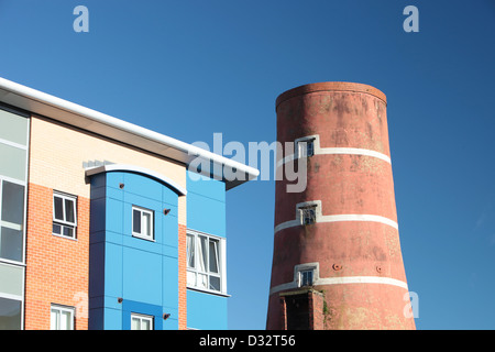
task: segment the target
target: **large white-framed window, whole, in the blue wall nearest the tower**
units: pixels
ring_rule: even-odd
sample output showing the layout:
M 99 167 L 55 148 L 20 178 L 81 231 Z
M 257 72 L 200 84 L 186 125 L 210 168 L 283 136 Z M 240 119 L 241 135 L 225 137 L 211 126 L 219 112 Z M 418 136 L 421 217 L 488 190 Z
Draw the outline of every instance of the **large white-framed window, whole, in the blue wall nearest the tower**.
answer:
M 187 286 L 221 292 L 223 274 L 223 239 L 190 232 L 187 234 Z

